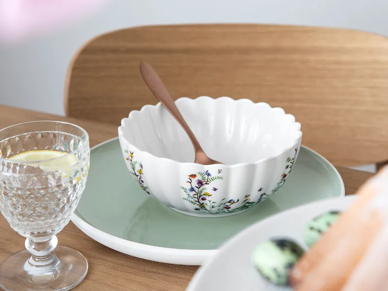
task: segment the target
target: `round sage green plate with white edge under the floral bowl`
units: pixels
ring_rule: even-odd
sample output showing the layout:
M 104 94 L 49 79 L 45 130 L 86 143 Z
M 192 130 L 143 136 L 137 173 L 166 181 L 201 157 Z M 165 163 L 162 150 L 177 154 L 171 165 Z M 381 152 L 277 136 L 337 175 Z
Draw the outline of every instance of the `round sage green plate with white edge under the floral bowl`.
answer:
M 119 252 L 153 261 L 200 265 L 246 226 L 311 201 L 344 196 L 339 173 L 302 146 L 284 186 L 252 209 L 220 218 L 178 213 L 149 197 L 129 174 L 117 138 L 91 150 L 85 191 L 72 221 Z

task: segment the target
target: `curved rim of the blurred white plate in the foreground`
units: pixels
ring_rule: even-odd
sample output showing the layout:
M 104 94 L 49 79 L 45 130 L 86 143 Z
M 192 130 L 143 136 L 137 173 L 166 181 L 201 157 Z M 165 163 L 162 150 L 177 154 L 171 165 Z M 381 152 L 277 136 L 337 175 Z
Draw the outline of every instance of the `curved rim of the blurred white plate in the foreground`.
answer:
M 267 218 L 264 218 L 250 226 L 247 226 L 246 228 L 242 229 L 238 233 L 236 233 L 233 237 L 231 237 L 229 240 L 224 242 L 220 248 L 218 249 L 218 253 L 222 253 L 223 251 L 227 250 L 230 245 L 233 245 L 237 241 L 241 240 L 241 237 L 246 235 L 247 233 L 253 231 L 253 229 L 258 228 L 258 225 L 261 224 L 267 224 L 269 221 L 274 219 L 275 217 L 280 216 L 288 216 L 291 215 L 290 213 L 299 212 L 301 209 L 305 209 L 308 207 L 315 207 L 316 205 L 322 204 L 322 203 L 330 203 L 333 204 L 334 202 L 339 201 L 342 205 L 345 205 L 345 207 L 349 207 L 350 204 L 356 199 L 356 194 L 347 195 L 346 197 L 329 197 L 325 199 L 321 199 L 318 201 L 313 201 L 310 203 L 302 204 L 300 206 L 279 212 L 277 214 L 268 216 Z M 349 204 L 349 205 L 348 205 Z M 257 230 L 256 230 L 257 231 Z M 191 278 L 189 284 L 187 285 L 185 291 L 197 291 L 197 285 L 200 282 L 202 276 L 204 273 L 206 273 L 207 268 L 209 268 L 209 265 L 211 262 L 213 262 L 218 256 L 214 255 L 208 259 L 205 260 L 205 262 L 198 268 L 198 270 L 194 273 L 193 277 Z

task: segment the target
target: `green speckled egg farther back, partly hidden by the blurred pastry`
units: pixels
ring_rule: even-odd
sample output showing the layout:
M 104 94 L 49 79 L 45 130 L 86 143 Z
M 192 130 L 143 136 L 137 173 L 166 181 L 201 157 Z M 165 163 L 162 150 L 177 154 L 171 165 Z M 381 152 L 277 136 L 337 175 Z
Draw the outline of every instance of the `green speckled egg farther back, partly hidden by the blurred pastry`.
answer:
M 310 220 L 305 227 L 305 232 L 303 234 L 303 239 L 306 245 L 311 247 L 315 242 L 317 242 L 323 233 L 325 233 L 329 227 L 337 221 L 339 214 L 339 211 L 330 211 Z

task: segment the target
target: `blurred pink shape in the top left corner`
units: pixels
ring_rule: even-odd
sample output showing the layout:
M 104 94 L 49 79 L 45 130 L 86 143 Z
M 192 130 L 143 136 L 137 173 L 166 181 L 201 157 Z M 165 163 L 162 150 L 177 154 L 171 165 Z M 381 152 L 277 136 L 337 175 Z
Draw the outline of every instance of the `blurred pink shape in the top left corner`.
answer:
M 107 0 L 0 0 L 0 40 L 18 42 L 54 32 L 97 12 Z

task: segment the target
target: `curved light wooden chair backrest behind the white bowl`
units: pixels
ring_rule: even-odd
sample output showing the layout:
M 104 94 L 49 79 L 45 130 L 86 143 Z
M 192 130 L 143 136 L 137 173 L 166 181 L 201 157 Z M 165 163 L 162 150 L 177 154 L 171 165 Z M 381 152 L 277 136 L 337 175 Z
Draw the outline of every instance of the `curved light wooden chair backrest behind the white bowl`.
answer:
M 171 95 L 268 102 L 302 123 L 303 144 L 337 165 L 388 160 L 388 39 L 280 25 L 135 27 L 91 40 L 74 56 L 68 116 L 120 124 L 156 104 L 139 72 L 150 63 Z

